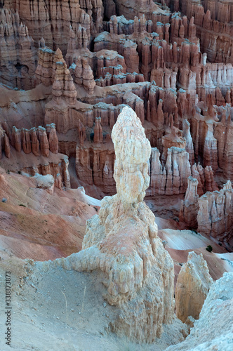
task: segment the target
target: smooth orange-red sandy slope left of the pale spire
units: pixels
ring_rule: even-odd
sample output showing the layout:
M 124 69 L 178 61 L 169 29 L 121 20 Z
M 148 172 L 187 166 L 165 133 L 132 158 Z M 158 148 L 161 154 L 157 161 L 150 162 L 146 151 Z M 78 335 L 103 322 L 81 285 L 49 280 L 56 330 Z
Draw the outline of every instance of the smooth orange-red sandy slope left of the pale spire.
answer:
M 55 259 L 79 251 L 99 201 L 79 189 L 49 194 L 33 177 L 0 168 L 0 249 L 19 258 Z

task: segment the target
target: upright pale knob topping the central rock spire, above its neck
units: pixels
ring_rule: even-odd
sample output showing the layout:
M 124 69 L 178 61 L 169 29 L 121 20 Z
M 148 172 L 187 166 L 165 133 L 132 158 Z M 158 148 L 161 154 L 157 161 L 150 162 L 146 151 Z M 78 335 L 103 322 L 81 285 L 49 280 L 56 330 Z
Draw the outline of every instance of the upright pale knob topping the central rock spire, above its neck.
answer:
M 131 206 L 142 201 L 149 186 L 148 164 L 151 147 L 140 119 L 124 107 L 112 129 L 116 154 L 114 180 L 117 197 Z

